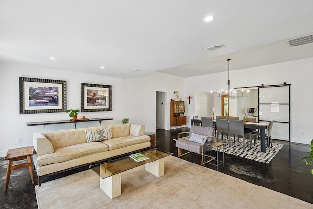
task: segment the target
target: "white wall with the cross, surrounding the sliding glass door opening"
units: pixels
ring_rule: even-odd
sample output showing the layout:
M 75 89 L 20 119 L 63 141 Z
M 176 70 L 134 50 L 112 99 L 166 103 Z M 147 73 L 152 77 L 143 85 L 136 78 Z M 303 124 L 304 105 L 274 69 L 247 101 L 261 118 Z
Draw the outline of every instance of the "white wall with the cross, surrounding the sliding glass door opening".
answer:
M 291 83 L 291 142 L 310 144 L 313 137 L 313 58 L 230 71 L 231 88 Z M 226 89 L 227 72 L 186 78 L 186 95 Z M 197 85 L 194 85 L 194 84 Z M 190 107 L 194 107 L 192 101 Z M 190 108 L 188 115 L 195 113 Z M 190 126 L 190 119 L 187 119 Z

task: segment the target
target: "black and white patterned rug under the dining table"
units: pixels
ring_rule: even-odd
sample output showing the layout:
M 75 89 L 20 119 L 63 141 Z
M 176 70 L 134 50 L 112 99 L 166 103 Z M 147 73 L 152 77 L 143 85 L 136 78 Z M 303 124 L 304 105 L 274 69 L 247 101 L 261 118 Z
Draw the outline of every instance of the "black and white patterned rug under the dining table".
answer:
M 180 139 L 188 140 L 188 137 L 182 137 Z M 177 139 L 173 139 L 177 140 Z M 217 141 L 215 138 L 214 141 Z M 272 148 L 269 150 L 268 147 L 266 147 L 266 152 L 261 152 L 261 143 L 260 140 L 256 141 L 256 144 L 250 148 L 250 145 L 248 146 L 248 139 L 245 139 L 245 150 L 243 149 L 243 139 L 239 138 L 239 142 L 236 141 L 234 143 L 234 137 L 231 137 L 231 146 L 229 147 L 229 141 L 228 139 L 220 140 L 219 142 L 224 143 L 224 152 L 226 154 L 230 155 L 236 155 L 243 158 L 247 158 L 250 160 L 262 162 L 262 163 L 269 163 L 275 155 L 278 153 L 278 151 L 283 147 L 282 143 L 273 143 Z M 213 150 L 216 150 L 216 147 L 213 147 Z M 219 148 L 219 151 L 222 151 L 222 148 Z

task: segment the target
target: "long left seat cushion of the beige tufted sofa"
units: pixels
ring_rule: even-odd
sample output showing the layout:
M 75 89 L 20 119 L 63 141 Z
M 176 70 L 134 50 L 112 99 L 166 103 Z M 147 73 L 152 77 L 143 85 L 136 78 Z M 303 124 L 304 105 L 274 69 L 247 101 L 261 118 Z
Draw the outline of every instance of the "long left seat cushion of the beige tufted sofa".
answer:
M 37 164 L 43 166 L 52 163 L 60 163 L 84 156 L 88 157 L 89 155 L 108 150 L 108 146 L 101 142 L 75 144 L 55 149 L 54 153 L 38 156 Z

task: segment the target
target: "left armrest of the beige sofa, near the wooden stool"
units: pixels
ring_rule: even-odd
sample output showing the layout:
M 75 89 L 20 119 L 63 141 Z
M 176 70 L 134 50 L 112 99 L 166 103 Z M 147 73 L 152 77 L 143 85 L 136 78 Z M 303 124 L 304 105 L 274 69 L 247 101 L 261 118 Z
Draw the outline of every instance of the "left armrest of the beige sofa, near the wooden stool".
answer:
M 53 145 L 43 133 L 35 133 L 33 135 L 33 145 L 37 156 L 54 153 Z

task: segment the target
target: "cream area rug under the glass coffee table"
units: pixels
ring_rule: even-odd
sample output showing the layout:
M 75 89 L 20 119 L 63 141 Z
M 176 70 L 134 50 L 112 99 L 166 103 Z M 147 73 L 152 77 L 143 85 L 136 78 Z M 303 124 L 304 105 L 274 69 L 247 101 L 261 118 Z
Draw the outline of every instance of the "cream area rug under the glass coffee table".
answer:
M 312 209 L 302 200 L 190 163 L 165 158 L 159 178 L 139 166 L 122 173 L 122 194 L 110 199 L 92 170 L 36 185 L 39 209 Z

